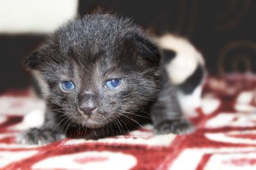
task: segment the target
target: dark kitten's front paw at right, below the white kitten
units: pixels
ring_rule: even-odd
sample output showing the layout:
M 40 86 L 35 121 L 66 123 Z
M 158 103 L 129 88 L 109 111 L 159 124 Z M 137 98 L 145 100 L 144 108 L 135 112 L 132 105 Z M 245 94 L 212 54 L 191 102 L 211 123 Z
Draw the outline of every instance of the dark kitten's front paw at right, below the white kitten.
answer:
M 155 127 L 157 134 L 188 134 L 193 132 L 194 126 L 186 119 L 165 120 Z

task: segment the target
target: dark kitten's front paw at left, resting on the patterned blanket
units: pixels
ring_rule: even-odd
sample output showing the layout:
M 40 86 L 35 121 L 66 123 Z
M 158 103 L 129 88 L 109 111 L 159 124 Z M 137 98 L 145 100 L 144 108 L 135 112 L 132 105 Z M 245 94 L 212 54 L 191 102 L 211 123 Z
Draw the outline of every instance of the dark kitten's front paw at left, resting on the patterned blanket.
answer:
M 58 133 L 52 132 L 51 129 L 32 128 L 28 131 L 21 132 L 17 136 L 16 141 L 17 143 L 26 145 L 45 145 L 64 138 L 64 135 L 58 135 Z

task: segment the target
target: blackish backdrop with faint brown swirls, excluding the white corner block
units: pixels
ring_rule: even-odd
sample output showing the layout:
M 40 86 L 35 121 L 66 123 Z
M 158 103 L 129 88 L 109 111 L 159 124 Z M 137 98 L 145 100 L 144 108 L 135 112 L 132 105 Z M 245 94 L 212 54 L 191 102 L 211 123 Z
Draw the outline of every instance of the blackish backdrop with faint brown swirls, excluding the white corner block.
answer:
M 212 75 L 256 72 L 256 1 L 80 0 L 79 15 L 95 6 L 130 17 L 156 34 L 173 32 L 185 36 L 204 54 Z M 20 62 L 45 36 L 0 34 L 0 92 L 28 87 L 29 78 Z

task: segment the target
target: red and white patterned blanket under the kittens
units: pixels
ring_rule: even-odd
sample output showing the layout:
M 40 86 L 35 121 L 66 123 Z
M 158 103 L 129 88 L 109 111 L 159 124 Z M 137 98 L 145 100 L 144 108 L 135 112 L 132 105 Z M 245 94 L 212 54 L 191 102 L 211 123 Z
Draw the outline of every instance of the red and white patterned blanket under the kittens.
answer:
M 28 92 L 0 96 L 0 169 L 256 169 L 256 77 L 209 78 L 196 131 L 156 136 L 146 125 L 126 136 L 19 145 L 15 136 L 42 123 Z M 24 118 L 31 112 L 36 117 Z

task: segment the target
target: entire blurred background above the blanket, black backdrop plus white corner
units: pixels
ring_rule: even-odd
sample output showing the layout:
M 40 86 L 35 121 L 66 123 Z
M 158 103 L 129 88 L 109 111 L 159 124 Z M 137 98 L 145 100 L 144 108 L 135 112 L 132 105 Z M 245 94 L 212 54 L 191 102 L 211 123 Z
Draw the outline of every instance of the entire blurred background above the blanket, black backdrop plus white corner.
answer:
M 209 74 L 256 73 L 256 1 L 253 0 L 0 0 L 0 93 L 25 89 L 21 62 L 48 34 L 97 6 L 132 18 L 154 34 L 188 38 Z

